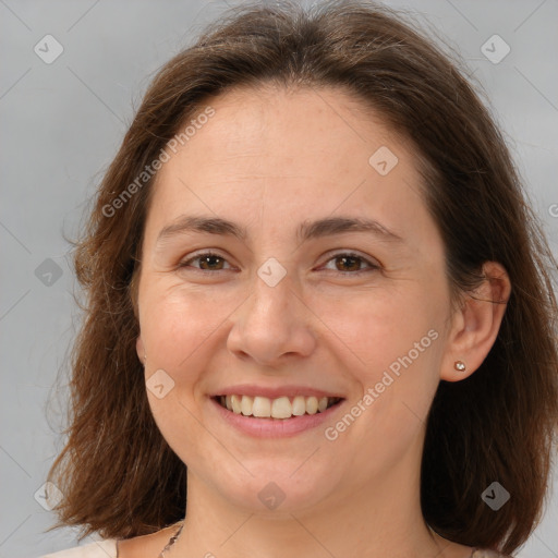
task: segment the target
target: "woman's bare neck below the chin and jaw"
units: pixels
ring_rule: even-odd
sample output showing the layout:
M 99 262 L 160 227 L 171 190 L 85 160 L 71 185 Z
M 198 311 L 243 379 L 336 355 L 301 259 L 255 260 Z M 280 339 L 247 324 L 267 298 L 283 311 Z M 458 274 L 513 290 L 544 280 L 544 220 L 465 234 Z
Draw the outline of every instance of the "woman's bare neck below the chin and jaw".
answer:
M 363 484 L 364 486 L 365 484 Z M 311 509 L 239 509 L 189 471 L 182 533 L 169 557 L 464 558 L 466 547 L 433 534 L 420 507 L 420 477 L 391 474 L 369 489 L 325 498 Z

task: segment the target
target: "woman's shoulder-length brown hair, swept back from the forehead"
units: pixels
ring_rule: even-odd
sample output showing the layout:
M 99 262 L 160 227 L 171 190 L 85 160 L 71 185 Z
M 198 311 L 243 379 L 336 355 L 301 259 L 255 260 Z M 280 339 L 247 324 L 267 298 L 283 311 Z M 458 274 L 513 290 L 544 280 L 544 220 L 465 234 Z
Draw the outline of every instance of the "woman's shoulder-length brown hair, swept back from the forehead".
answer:
M 183 517 L 186 468 L 154 422 L 135 349 L 135 286 L 153 178 L 128 194 L 207 99 L 270 83 L 344 88 L 412 141 L 453 294 L 478 284 L 484 262 L 507 269 L 512 293 L 489 354 L 468 379 L 439 384 L 421 498 L 425 520 L 444 537 L 511 553 L 539 521 L 555 449 L 556 262 L 468 80 L 398 13 L 357 0 L 310 11 L 244 2 L 149 86 L 75 251 L 86 313 L 72 359 L 69 437 L 49 472 L 63 493 L 60 521 L 50 529 L 83 525 L 82 538 L 93 532 L 128 538 Z M 481 499 L 494 481 L 511 493 L 498 512 Z

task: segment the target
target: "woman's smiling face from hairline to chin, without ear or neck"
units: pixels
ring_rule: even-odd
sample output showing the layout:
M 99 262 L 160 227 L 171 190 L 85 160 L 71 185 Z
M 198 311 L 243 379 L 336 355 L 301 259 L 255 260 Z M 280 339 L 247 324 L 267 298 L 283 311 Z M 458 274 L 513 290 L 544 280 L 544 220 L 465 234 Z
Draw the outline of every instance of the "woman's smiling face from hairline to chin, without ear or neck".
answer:
M 162 435 L 252 510 L 414 483 L 451 313 L 413 153 L 335 89 L 210 107 L 167 149 L 143 244 L 137 352 Z M 342 401 L 313 413 L 324 397 Z M 271 409 L 304 415 L 250 416 Z

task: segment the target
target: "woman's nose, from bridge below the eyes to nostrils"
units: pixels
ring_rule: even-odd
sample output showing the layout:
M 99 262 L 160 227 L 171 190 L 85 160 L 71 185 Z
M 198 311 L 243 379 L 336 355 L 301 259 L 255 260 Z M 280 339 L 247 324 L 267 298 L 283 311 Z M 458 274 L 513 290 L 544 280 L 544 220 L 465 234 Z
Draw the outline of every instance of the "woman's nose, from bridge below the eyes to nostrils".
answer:
M 233 314 L 229 351 L 262 366 L 284 365 L 312 354 L 316 345 L 312 311 L 287 275 L 270 287 L 255 274 L 248 298 Z

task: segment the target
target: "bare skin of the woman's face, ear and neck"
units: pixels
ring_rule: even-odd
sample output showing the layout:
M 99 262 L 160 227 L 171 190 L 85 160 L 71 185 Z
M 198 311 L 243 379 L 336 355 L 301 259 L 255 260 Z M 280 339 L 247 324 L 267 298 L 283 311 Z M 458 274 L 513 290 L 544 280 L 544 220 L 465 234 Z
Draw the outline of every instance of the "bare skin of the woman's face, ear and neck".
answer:
M 145 378 L 163 369 L 174 381 L 147 397 L 189 468 L 186 523 L 169 556 L 470 556 L 432 535 L 421 513 L 425 417 L 440 379 L 483 362 L 505 304 L 465 296 L 452 308 L 412 147 L 350 95 L 235 89 L 210 106 L 215 116 L 157 175 L 138 287 Z M 380 146 L 399 159 L 387 175 L 368 163 Z M 187 232 L 157 244 L 181 215 L 202 214 L 247 238 Z M 298 242 L 301 222 L 331 216 L 376 219 L 401 241 L 343 232 Z M 209 248 L 225 260 L 191 259 Z M 333 257 L 347 252 L 364 260 Z M 270 257 L 287 271 L 275 287 L 257 275 Z M 487 263 L 485 272 L 476 296 L 506 301 L 506 271 Z M 335 425 L 429 330 L 437 339 L 332 441 L 324 427 L 254 439 L 208 399 L 241 383 L 316 387 L 347 399 Z M 258 498 L 269 482 L 286 496 L 275 510 Z M 119 556 L 155 558 L 174 531 L 121 541 Z

